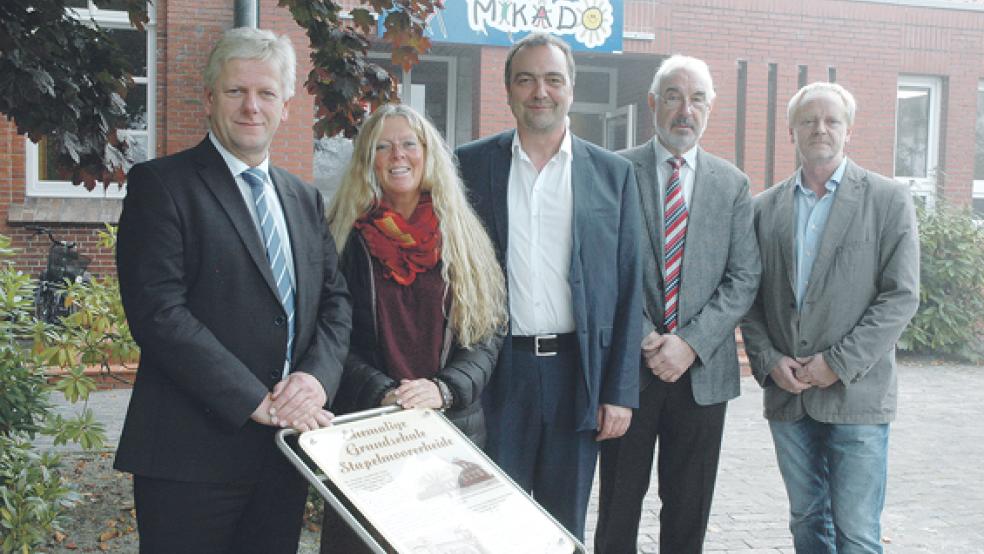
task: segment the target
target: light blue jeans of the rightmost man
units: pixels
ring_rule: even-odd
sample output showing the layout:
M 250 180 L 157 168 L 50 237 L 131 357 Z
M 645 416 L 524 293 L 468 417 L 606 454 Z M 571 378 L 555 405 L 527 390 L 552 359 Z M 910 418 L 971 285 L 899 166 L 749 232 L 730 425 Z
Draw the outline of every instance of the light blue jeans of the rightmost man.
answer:
M 770 421 L 797 554 L 881 554 L 888 424 Z

